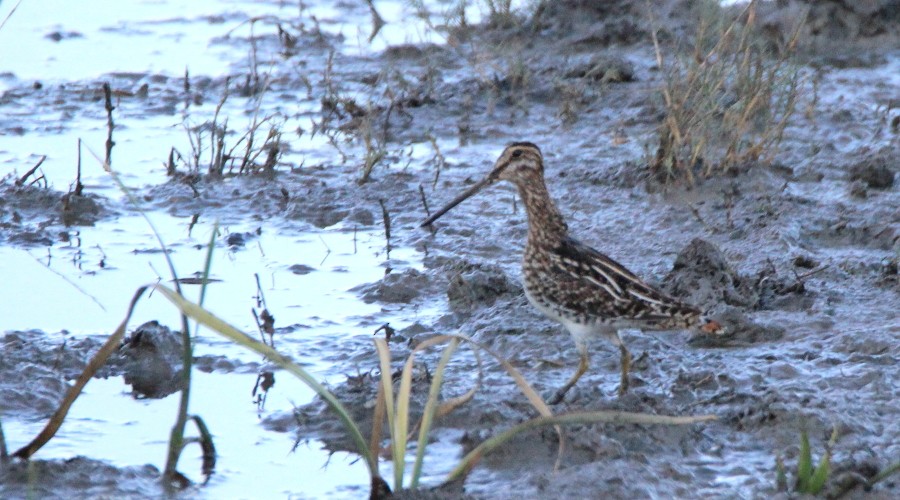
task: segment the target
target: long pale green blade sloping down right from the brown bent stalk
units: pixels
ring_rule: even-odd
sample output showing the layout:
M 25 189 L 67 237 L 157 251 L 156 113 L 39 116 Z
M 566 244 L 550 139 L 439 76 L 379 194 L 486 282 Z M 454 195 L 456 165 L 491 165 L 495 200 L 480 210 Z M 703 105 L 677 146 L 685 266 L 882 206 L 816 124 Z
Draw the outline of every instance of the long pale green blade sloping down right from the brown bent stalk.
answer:
M 365 458 L 370 475 L 372 475 L 373 477 L 378 475 L 377 470 L 373 467 L 373 464 L 375 462 L 374 458 L 371 455 L 371 451 L 369 450 L 369 447 L 366 444 L 366 440 L 363 437 L 362 432 L 360 432 L 359 427 L 350 417 L 350 413 L 346 408 L 344 408 L 344 405 L 342 405 L 340 401 L 338 401 L 334 397 L 333 394 L 328 392 L 328 389 L 322 386 L 322 384 L 320 384 L 312 375 L 307 373 L 306 370 L 293 363 L 291 360 L 286 358 L 275 349 L 267 346 L 266 344 L 263 344 L 262 342 L 259 342 L 258 340 L 255 340 L 246 333 L 238 330 L 219 317 L 203 309 L 199 305 L 185 299 L 183 296 L 179 295 L 171 288 L 161 284 L 155 284 L 151 287 L 154 290 L 158 291 L 165 298 L 167 298 L 170 302 L 175 304 L 175 306 L 178 307 L 182 314 L 193 318 L 203 326 L 215 331 L 219 335 L 233 341 L 234 343 L 265 356 L 288 373 L 303 381 L 303 383 L 305 383 L 307 386 L 309 386 L 310 389 L 315 391 L 316 394 L 318 394 L 319 397 L 321 397 L 331 408 L 331 410 L 334 411 L 335 414 L 337 414 L 338 418 L 341 420 L 341 423 L 343 423 L 344 427 L 347 429 L 347 432 L 350 435 L 353 444 L 356 446 L 357 451 L 360 455 L 363 456 L 363 458 Z

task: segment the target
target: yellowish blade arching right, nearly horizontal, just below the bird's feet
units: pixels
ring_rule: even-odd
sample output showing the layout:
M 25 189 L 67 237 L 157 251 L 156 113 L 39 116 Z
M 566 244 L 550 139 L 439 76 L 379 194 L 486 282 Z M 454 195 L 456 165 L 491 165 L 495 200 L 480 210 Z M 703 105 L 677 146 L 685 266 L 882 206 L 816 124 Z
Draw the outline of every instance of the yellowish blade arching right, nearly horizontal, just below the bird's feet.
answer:
M 662 415 L 648 415 L 645 413 L 629 413 L 615 411 L 577 412 L 552 417 L 537 417 L 519 425 L 513 426 L 500 434 L 493 436 L 470 451 L 459 465 L 447 476 L 445 483 L 461 480 L 472 470 L 481 458 L 500 447 L 516 435 L 537 427 L 548 425 L 610 423 L 610 424 L 662 424 L 662 425 L 687 425 L 698 422 L 715 420 L 713 415 L 695 417 L 668 417 Z

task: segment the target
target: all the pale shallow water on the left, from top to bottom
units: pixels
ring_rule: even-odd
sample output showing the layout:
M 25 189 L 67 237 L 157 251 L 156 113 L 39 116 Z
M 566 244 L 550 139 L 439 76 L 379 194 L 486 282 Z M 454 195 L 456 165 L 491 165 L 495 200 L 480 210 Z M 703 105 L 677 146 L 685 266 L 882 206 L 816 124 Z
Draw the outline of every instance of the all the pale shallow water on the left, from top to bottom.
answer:
M 11 7 L 11 2 L 4 3 L 0 17 Z M 53 101 L 35 103 L 25 97 L 17 100 L 20 106 L 7 106 L 6 119 L 21 133 L 0 139 L 0 164 L 21 175 L 40 154 L 46 154 L 40 173 L 51 188 L 65 190 L 74 182 L 80 139 L 84 144 L 81 182 L 86 191 L 123 199 L 120 188 L 90 153 L 102 155 L 105 111 L 102 101 L 96 100 L 100 96 L 96 85 L 81 82 L 100 77 L 113 82 L 114 90 L 129 92 L 147 84 L 154 89 L 149 98 L 154 100 L 156 90 L 181 85 L 185 70 L 199 80 L 241 71 L 248 61 L 246 39 L 251 26 L 247 19 L 251 16 L 262 19 L 263 27 L 252 28 L 257 34 L 271 32 L 276 16 L 305 23 L 314 16 L 321 29 L 344 36 L 342 50 L 356 53 L 371 53 L 395 42 L 423 41 L 428 30 L 399 22 L 408 15 L 403 2 L 384 2 L 379 7 L 389 29 L 368 44 L 363 35 L 370 18 L 364 6 L 335 8 L 322 2 L 301 10 L 288 2 L 171 0 L 104 1 L 86 9 L 67 1 L 25 1 L 0 29 L 0 90 L 16 93 L 29 82 L 40 82 L 53 88 L 49 97 Z M 55 40 L 56 34 L 61 39 Z M 15 49 L 25 46 L 29 50 Z M 236 50 L 241 52 L 237 56 Z M 263 113 L 284 107 L 280 96 L 263 98 Z M 59 100 L 71 101 L 65 106 L 68 116 L 60 117 Z M 159 111 L 146 113 L 148 104 Z M 209 119 L 214 104 L 194 106 L 186 113 L 181 103 L 165 98 L 155 106 L 146 99 L 117 98 L 113 168 L 122 181 L 133 188 L 165 182 L 169 149 L 191 149 L 185 123 Z M 256 106 L 255 99 L 234 98 L 222 113 L 233 129 L 240 129 L 251 121 L 250 112 Z M 289 105 L 282 119 L 286 126 L 309 129 L 312 118 L 308 115 L 317 110 L 316 99 L 305 103 L 301 99 Z M 321 151 L 323 146 L 329 151 Z M 331 161 L 335 154 L 321 136 L 307 135 L 302 143 L 293 141 L 292 147 L 295 153 L 304 153 L 302 161 Z M 410 158 L 422 154 L 409 151 Z M 301 159 L 289 153 L 285 161 Z M 128 203 L 122 208 L 127 212 L 94 227 L 68 228 L 49 247 L 0 248 L 0 274 L 6 283 L 0 288 L 0 303 L 15 304 L 14 314 L 0 317 L 0 331 L 41 329 L 48 339 L 60 343 L 97 337 L 122 320 L 138 286 L 157 281 L 171 286 L 168 267 L 147 222 Z M 204 215 L 192 223 L 191 217 L 152 207 L 147 210 L 178 275 L 198 276 L 217 216 Z M 421 256 L 412 249 L 396 248 L 390 257 L 386 255 L 383 229 L 345 224 L 319 229 L 299 222 L 253 220 L 236 212 L 225 217 L 229 220 L 219 224 L 215 236 L 211 276 L 215 281 L 209 285 L 205 305 L 256 336 L 251 308 L 257 306 L 258 275 L 265 303 L 276 316 L 276 346 L 323 382 L 344 381 L 347 369 L 330 361 L 341 357 L 336 347 L 342 342 L 366 345 L 388 321 L 403 328 L 417 315 L 433 314 L 404 311 L 392 316 L 390 307 L 367 304 L 349 291 L 378 281 L 388 266 L 398 271 L 421 269 Z M 246 234 L 246 244 L 229 247 L 228 237 L 238 232 Z M 302 266 L 302 274 L 294 273 L 291 266 Z M 196 300 L 199 287 L 184 288 Z M 130 324 L 134 327 L 151 319 L 179 324 L 175 309 L 158 294 L 140 302 Z M 261 361 L 205 331 L 197 339 L 195 354 L 224 356 L 236 363 Z M 274 433 L 260 425 L 267 415 L 289 414 L 295 405 L 308 403 L 312 391 L 280 374 L 265 410 L 258 411 L 250 396 L 255 379 L 255 374 L 238 373 L 197 372 L 194 377 L 191 412 L 206 420 L 220 456 L 216 474 L 202 491 L 213 497 L 244 498 L 282 494 L 357 498 L 364 494 L 367 473 L 357 457 L 323 450 L 315 440 L 292 453 L 292 434 Z M 93 380 L 38 458 L 86 455 L 117 466 L 147 462 L 161 466 L 176 406 L 177 397 L 136 401 L 120 378 Z M 97 408 L 104 411 L 98 414 Z M 36 434 L 43 419 L 7 416 L 3 424 L 8 445 L 16 449 Z M 199 468 L 199 451 L 188 449 L 180 469 L 201 479 L 192 474 Z

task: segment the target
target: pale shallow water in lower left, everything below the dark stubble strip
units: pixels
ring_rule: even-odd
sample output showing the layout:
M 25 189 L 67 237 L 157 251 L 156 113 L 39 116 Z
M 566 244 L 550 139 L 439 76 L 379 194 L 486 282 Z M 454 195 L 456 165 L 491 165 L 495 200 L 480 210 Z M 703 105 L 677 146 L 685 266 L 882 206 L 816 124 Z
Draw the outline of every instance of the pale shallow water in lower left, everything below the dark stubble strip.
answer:
M 170 248 L 180 276 L 193 277 L 202 272 L 211 224 L 198 223 L 189 235 L 189 220 L 160 213 L 149 216 Z M 124 317 L 138 285 L 154 283 L 162 275 L 163 283 L 171 286 L 158 244 L 146 227 L 139 216 L 123 216 L 97 227 L 73 230 L 69 243 L 46 249 L 0 250 L 0 272 L 8 284 L 0 289 L 0 302 L 16 304 L 16 314 L 4 314 L 0 329 L 41 328 L 49 332 L 49 339 L 60 343 L 111 331 Z M 248 237 L 244 248 L 228 249 L 222 243 L 231 232 L 255 234 L 257 228 L 262 228 L 262 234 Z M 280 327 L 275 345 L 324 382 L 341 383 L 349 374 L 343 365 L 329 361 L 338 355 L 335 348 L 341 343 L 365 345 L 386 320 L 403 328 L 416 319 L 408 312 L 391 319 L 389 312 L 362 302 L 349 291 L 360 283 L 377 281 L 388 262 L 419 266 L 415 253 L 404 249 L 392 252 L 388 261 L 380 231 L 305 228 L 290 231 L 288 234 L 294 236 L 288 236 L 287 231 L 276 234 L 266 225 L 238 223 L 223 225 L 220 232 L 211 276 L 216 281 L 208 287 L 206 306 L 258 336 L 251 315 L 257 295 L 254 274 L 258 274 L 266 304 L 276 316 L 276 327 Z M 290 270 L 295 264 L 311 270 L 295 274 Z M 183 287 L 188 297 L 196 300 L 199 287 Z M 35 318 L 41 320 L 36 322 Z M 179 324 L 174 307 L 158 294 L 139 303 L 130 324 L 134 327 L 150 319 Z M 61 330 L 65 335 L 55 333 Z M 195 355 L 225 356 L 238 366 L 262 361 L 204 330 L 196 340 Z M 312 399 L 312 391 L 299 381 L 279 372 L 265 411 L 258 414 L 250 396 L 255 374 L 195 373 L 191 413 L 206 420 L 221 457 L 216 475 L 204 489 L 210 495 L 246 498 L 302 492 L 318 497 L 343 492 L 355 497 L 360 490 L 354 485 L 368 487 L 365 467 L 355 457 L 332 455 L 316 441 L 291 453 L 292 434 L 273 434 L 260 426 L 261 417 L 289 413 L 294 405 Z M 87 455 L 118 466 L 162 460 L 177 396 L 135 401 L 127 389 L 120 377 L 92 380 L 59 435 L 38 457 Z M 97 408 L 104 410 L 97 414 Z M 36 434 L 43 419 L 29 422 L 7 417 L 3 423 L 8 444 L 15 449 Z M 319 469 L 314 481 L 299 481 L 288 473 L 307 474 Z M 181 470 L 188 475 L 198 471 L 199 452 L 189 450 Z M 259 478 L 267 479 L 260 485 Z

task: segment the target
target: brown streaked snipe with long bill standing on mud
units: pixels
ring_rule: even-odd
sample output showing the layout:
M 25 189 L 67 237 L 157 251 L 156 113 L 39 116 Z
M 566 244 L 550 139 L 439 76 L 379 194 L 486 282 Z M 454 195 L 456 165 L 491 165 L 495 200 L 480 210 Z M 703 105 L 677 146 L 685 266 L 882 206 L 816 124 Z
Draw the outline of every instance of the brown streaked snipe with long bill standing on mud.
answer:
M 550 403 L 562 401 L 587 371 L 587 341 L 591 337 L 605 337 L 619 346 L 619 394 L 624 394 L 628 390 L 631 354 L 619 338 L 619 330 L 694 327 L 703 322 L 700 311 L 651 287 L 618 262 L 571 238 L 569 227 L 547 192 L 541 150 L 530 142 L 507 146 L 487 177 L 435 212 L 422 226 L 430 225 L 466 198 L 502 180 L 516 185 L 528 212 L 528 243 L 522 260 L 525 295 L 544 315 L 569 330 L 581 355 L 578 370 Z M 722 330 L 714 321 L 700 328 L 707 333 Z

